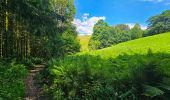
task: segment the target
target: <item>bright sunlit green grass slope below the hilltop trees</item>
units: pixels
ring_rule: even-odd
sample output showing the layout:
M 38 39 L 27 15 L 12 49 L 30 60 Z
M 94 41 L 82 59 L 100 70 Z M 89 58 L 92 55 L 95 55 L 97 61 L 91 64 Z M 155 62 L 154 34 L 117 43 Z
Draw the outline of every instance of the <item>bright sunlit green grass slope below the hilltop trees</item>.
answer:
M 80 54 L 88 53 L 92 55 L 100 55 L 102 58 L 117 57 L 121 54 L 145 54 L 148 49 L 152 52 L 170 52 L 170 32 L 159 34 L 155 36 L 140 38 L 124 43 L 114 45 L 101 50 L 83 52 Z

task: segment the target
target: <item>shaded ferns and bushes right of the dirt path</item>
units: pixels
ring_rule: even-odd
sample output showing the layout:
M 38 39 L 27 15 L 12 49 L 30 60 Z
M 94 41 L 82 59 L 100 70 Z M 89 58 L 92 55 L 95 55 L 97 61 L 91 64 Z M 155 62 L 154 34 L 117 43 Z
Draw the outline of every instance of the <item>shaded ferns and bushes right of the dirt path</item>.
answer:
M 69 56 L 52 59 L 46 92 L 53 99 L 146 100 L 170 98 L 170 55 Z M 60 97 L 60 98 L 59 98 Z

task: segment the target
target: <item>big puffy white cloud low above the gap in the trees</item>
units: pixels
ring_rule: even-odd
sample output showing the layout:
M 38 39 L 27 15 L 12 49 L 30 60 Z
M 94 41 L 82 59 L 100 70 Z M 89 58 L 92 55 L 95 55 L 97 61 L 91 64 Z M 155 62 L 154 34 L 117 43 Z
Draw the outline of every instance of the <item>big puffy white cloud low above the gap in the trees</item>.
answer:
M 77 31 L 80 33 L 80 35 L 91 35 L 93 33 L 93 27 L 98 22 L 98 20 L 103 19 L 105 20 L 106 17 L 91 17 L 89 18 L 88 13 L 84 13 L 81 19 L 74 19 L 72 22 L 76 28 Z

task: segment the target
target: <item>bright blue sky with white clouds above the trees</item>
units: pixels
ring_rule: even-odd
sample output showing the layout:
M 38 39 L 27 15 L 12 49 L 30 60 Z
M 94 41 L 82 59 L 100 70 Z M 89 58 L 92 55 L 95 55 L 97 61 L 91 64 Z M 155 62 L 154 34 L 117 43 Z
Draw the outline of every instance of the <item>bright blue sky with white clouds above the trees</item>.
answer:
M 92 34 L 94 24 L 104 19 L 110 25 L 140 23 L 147 26 L 147 19 L 170 9 L 170 0 L 75 0 L 74 24 L 83 35 Z

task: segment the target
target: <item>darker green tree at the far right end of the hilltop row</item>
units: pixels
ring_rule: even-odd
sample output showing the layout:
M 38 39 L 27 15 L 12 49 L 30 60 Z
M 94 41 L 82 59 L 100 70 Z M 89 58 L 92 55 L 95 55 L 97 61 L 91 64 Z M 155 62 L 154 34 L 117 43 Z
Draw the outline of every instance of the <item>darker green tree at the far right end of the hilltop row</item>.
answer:
M 148 22 L 148 35 L 170 32 L 170 10 L 167 10 L 160 15 L 151 17 Z

